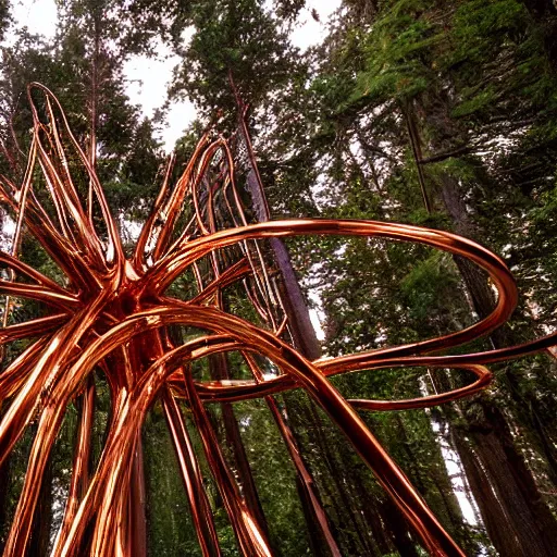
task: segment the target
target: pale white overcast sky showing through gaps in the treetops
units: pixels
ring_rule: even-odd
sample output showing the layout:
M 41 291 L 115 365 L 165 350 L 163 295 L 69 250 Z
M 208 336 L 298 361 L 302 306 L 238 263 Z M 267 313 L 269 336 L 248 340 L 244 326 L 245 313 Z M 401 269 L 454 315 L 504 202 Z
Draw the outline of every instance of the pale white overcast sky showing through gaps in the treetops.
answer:
M 308 0 L 306 4 L 292 34 L 293 44 L 301 50 L 323 40 L 326 22 L 339 7 L 341 0 Z M 311 16 L 312 9 L 318 12 L 320 23 Z M 47 38 L 54 36 L 57 24 L 54 0 L 15 0 L 12 13 L 17 27 L 26 25 L 30 33 L 44 35 Z M 178 61 L 180 59 L 171 55 L 161 44 L 157 58 L 133 57 L 126 62 L 124 73 L 127 78 L 127 94 L 132 102 L 139 104 L 146 115 L 152 116 L 153 111 L 164 103 L 172 69 Z M 168 151 L 174 147 L 176 139 L 195 116 L 196 109 L 191 102 L 172 104 L 161 129 L 161 139 Z

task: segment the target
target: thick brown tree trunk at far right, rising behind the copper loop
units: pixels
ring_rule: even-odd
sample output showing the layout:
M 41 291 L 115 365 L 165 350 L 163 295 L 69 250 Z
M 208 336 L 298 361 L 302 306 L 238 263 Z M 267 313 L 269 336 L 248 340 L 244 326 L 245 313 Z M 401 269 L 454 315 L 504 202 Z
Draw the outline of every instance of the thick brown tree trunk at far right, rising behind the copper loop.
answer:
M 429 116 L 432 116 L 431 112 L 426 120 Z M 449 119 L 437 114 L 432 122 L 438 126 L 440 122 L 449 122 Z M 444 137 L 450 137 L 448 132 L 438 131 Z M 455 135 L 453 133 L 453 137 Z M 446 146 L 432 145 L 434 152 L 443 149 L 446 150 Z M 455 232 L 473 239 L 476 231 L 459 183 L 447 173 L 441 173 L 440 182 L 441 198 Z M 487 315 L 494 300 L 485 274 L 468 260 L 455 258 L 455 261 L 472 308 L 480 318 Z M 491 339 L 494 346 L 508 341 L 502 331 L 492 334 Z M 481 418 L 478 418 L 478 412 L 465 414 L 468 419 L 461 437 L 454 433 L 454 438 L 495 547 L 502 555 L 510 557 L 552 555 L 557 547 L 557 521 L 513 444 L 506 418 L 486 395 L 480 395 L 474 406 L 481 408 Z

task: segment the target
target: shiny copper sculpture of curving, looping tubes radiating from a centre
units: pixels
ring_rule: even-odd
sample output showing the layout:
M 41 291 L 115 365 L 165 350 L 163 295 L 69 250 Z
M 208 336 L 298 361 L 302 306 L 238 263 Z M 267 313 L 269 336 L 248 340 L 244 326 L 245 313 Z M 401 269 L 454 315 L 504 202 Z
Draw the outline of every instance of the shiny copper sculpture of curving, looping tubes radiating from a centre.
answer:
M 0 253 L 2 267 L 10 273 L 0 281 L 0 292 L 7 297 L 38 300 L 51 311 L 24 323 L 4 322 L 0 330 L 2 346 L 33 338 L 0 375 L 5 405 L 0 422 L 0 462 L 32 422 L 37 429 L 4 556 L 24 555 L 28 547 L 49 453 L 67 405 L 77 397 L 82 401 L 78 438 L 53 556 L 137 555 L 131 530 L 133 502 L 140 497 L 135 476 L 140 458 L 139 432 L 156 399 L 164 408 L 202 554 L 218 556 L 221 552 L 199 465 L 180 410 L 182 399 L 191 411 L 240 550 L 247 556 L 272 555 L 264 529 L 250 512 L 226 467 L 205 405 L 264 397 L 297 473 L 309 485 L 292 432 L 273 398 L 292 388 L 304 388 L 326 411 L 432 555 L 463 555 L 356 409 L 425 408 L 456 400 L 490 383 L 492 374 L 485 364 L 555 345 L 554 333 L 522 346 L 487 352 L 433 355 L 486 335 L 509 318 L 518 294 L 505 263 L 471 240 L 418 226 L 315 219 L 249 224 L 235 184 L 231 148 L 222 137 L 210 141 L 208 136 L 201 139 L 174 187 L 170 185 L 169 164 L 135 251 L 126 257 L 94 160 L 72 135 L 55 97 L 44 86 L 34 84 L 33 88 L 44 95 L 48 119 L 41 122 L 33 104 L 33 143 L 21 187 L 1 178 L 1 200 L 15 214 L 16 232 L 12 253 Z M 215 164 L 220 171 L 209 172 Z M 72 177 L 77 166 L 85 172 L 88 196 L 83 194 L 83 184 Z M 48 193 L 50 214 L 36 195 L 38 186 L 34 188 L 39 174 L 41 197 Z M 86 203 L 82 202 L 84 197 L 88 197 Z M 221 209 L 225 207 L 225 219 L 215 211 L 216 198 Z M 193 215 L 183 224 L 189 200 Z M 226 219 L 232 226 L 222 226 Z M 63 285 L 17 259 L 23 226 L 64 273 Z M 497 305 L 487 318 L 443 337 L 309 361 L 287 342 L 288 319 L 284 312 L 281 314 L 281 295 L 261 245 L 265 238 L 306 234 L 414 242 L 466 257 L 488 273 L 498 292 Z M 206 271 L 201 272 L 201 267 Z M 168 288 L 186 271 L 195 277 L 197 294 L 187 300 L 171 297 Z M 222 292 L 238 284 L 244 285 L 264 327 L 225 311 Z M 4 319 L 8 307 L 7 302 Z M 172 325 L 196 327 L 206 334 L 176 343 Z M 252 380 L 194 381 L 191 362 L 232 351 L 242 355 Z M 256 356 L 268 358 L 281 373 L 265 377 Z M 476 380 L 448 393 L 409 400 L 347 400 L 327 381 L 327 376 L 338 373 L 406 366 L 466 369 Z M 106 374 L 113 411 L 99 465 L 89 473 L 95 388 L 91 376 L 96 368 Z M 319 502 L 312 500 L 331 550 L 339 555 Z

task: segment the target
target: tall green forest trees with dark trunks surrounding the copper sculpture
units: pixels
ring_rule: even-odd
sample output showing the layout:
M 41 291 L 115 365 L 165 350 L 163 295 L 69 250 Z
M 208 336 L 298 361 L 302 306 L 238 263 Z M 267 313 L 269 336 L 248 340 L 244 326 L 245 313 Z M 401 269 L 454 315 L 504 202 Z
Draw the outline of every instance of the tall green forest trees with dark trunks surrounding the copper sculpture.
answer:
M 59 0 L 55 5 L 55 33 L 41 36 L 15 17 L 14 2 L 0 1 L 1 176 L 23 181 L 34 126 L 27 86 L 44 84 L 64 107 L 77 141 L 94 149 L 129 255 L 164 180 L 168 153 L 160 129 L 172 103 L 187 100 L 196 115 L 175 144 L 169 183 L 176 183 L 203 134 L 213 139 L 222 134 L 238 160 L 250 222 L 305 216 L 399 222 L 451 232 L 499 255 L 517 281 L 518 308 L 506 325 L 454 354 L 525 343 L 557 327 L 552 0 L 341 0 L 326 18 L 319 2 L 304 0 Z M 319 25 L 322 39 L 302 49 L 293 37 L 305 18 Z M 177 63 L 161 109 L 145 114 L 129 98 L 126 63 L 170 55 Z M 256 172 L 264 202 L 253 186 Z M 14 215 L 2 205 L 0 218 L 7 251 Z M 282 290 L 290 306 L 283 309 L 295 315 L 292 342 L 310 360 L 449 334 L 485 318 L 496 304 L 494 285 L 479 268 L 420 244 L 299 236 L 282 247 L 264 246 L 276 273 L 284 274 L 281 264 L 293 271 Z M 21 259 L 63 280 L 28 231 Z M 193 275 L 184 274 L 171 289 L 186 299 L 195 295 L 193 284 Z M 235 290 L 223 304 L 247 320 L 259 319 Z M 10 324 L 41 311 L 33 301 L 1 305 Z M 313 329 L 310 318 L 319 326 Z M 195 331 L 176 334 L 189 338 Z M 10 343 L 1 369 L 26 348 L 24 342 Z M 236 356 L 225 363 L 208 357 L 194 367 L 194 376 L 245 380 L 249 368 Z M 265 366 L 270 375 L 276 372 Z M 471 397 L 360 416 L 466 555 L 550 556 L 557 547 L 557 351 L 491 369 L 493 383 Z M 470 381 L 471 373 L 423 367 L 331 379 L 346 398 L 388 400 Z M 0 400 L 0 416 L 8 398 Z M 30 556 L 49 555 L 61 525 L 79 400 L 69 406 L 48 459 Z M 304 391 L 268 403 L 206 407 L 224 460 L 275 555 L 425 555 L 399 508 Z M 91 468 L 112 411 L 110 385 L 98 371 Z M 222 555 L 240 555 L 190 409 L 183 405 L 177 411 L 199 459 Z M 141 429 L 145 554 L 203 555 L 166 419 L 158 400 Z M 311 496 L 280 424 L 292 433 Z M 2 550 L 35 428 L 0 467 Z M 311 497 L 324 510 L 325 529 Z

